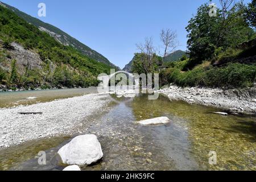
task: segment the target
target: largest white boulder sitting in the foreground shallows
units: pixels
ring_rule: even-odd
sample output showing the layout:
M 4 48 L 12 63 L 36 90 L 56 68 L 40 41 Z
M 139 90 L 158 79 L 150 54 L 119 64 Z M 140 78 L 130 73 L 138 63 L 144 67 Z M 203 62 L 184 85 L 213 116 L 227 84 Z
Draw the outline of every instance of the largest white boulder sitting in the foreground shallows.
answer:
M 80 135 L 58 151 L 64 164 L 87 166 L 103 157 L 101 144 L 95 135 Z

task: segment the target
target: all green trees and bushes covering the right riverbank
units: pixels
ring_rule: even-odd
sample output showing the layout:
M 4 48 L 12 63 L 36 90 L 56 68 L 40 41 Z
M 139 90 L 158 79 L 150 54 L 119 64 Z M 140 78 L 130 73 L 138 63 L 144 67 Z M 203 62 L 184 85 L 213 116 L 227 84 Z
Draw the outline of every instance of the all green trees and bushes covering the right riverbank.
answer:
M 219 88 L 254 86 L 256 1 L 253 0 L 248 6 L 232 0 L 220 0 L 220 4 L 216 16 L 209 15 L 211 7 L 205 3 L 189 20 L 186 27 L 187 57 L 184 55 L 177 61 L 159 64 L 154 59 L 143 59 L 146 55 L 154 57 L 150 56 L 154 52 L 144 51 L 141 52 L 144 56 L 137 56 L 134 61 L 133 71 L 138 72 L 138 65 L 154 65 L 154 71 L 159 73 L 162 86 L 170 83 Z M 152 42 L 150 45 L 152 46 Z M 171 45 L 174 47 L 174 44 Z M 148 46 L 145 48 L 147 50 Z M 154 48 L 151 47 L 150 50 L 152 49 Z M 143 69 L 142 72 L 147 73 Z

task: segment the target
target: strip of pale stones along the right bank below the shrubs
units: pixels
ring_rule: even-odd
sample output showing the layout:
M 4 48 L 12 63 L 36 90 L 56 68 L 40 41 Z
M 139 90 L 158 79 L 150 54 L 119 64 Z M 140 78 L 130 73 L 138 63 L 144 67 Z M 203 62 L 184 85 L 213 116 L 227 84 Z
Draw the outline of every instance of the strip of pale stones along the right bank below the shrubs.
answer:
M 180 88 L 171 85 L 160 89 L 170 100 L 181 100 L 189 104 L 220 107 L 233 114 L 256 114 L 256 89 L 221 90 L 210 88 Z

